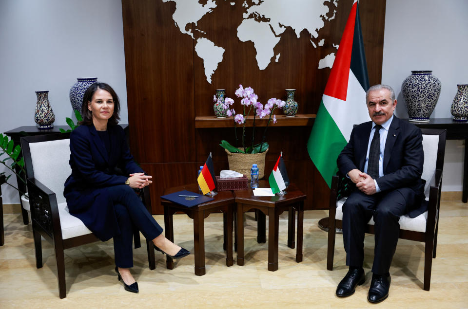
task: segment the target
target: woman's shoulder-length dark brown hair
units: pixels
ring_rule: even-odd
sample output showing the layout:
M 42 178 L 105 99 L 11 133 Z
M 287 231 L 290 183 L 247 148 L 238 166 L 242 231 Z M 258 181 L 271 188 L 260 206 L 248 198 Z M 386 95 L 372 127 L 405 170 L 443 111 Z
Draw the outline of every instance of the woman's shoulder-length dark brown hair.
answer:
M 86 89 L 86 91 L 84 92 L 83 105 L 81 106 L 81 117 L 83 117 L 83 120 L 79 121 L 78 124 L 86 126 L 93 124 L 93 114 L 91 113 L 91 110 L 88 109 L 88 103 L 91 102 L 94 93 L 98 91 L 98 89 L 105 90 L 112 95 L 112 99 L 114 100 L 114 113 L 109 119 L 108 124 L 117 125 L 118 120 L 120 120 L 120 102 L 118 100 L 117 93 L 108 84 L 99 82 L 91 84 L 91 86 L 89 86 L 88 89 Z

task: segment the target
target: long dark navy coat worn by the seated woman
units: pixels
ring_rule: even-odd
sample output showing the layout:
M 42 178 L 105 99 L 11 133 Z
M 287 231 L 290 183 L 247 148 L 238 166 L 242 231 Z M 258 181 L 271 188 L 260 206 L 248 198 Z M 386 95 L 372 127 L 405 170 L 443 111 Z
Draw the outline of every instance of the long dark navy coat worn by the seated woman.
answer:
M 133 161 L 122 127 L 108 126 L 107 131 L 110 154 L 93 125 L 81 125 L 72 131 L 72 174 L 63 192 L 70 214 L 83 221 L 102 241 L 120 234 L 114 204 L 106 188 L 125 184 L 129 174 L 143 172 Z

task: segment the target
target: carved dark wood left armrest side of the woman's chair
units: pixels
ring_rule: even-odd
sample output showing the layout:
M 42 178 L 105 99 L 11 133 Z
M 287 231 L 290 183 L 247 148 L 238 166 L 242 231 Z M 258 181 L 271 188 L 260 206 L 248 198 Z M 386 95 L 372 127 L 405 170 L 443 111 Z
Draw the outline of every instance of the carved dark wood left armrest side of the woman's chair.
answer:
M 51 239 L 60 237 L 61 241 L 59 207 L 55 192 L 35 178 L 28 178 L 27 186 L 32 224 L 39 226 Z

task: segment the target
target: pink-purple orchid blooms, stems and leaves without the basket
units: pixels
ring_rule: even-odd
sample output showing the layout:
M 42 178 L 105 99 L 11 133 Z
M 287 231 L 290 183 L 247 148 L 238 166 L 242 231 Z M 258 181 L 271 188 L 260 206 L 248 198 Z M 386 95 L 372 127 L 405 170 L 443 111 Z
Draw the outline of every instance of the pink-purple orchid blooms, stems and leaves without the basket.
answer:
M 226 114 L 229 117 L 233 117 L 234 120 L 234 137 L 235 137 L 235 146 L 231 145 L 229 142 L 222 140 L 221 147 L 229 150 L 233 153 L 259 153 L 264 152 L 268 149 L 268 143 L 265 142 L 265 136 L 267 134 L 268 126 L 270 125 L 270 121 L 272 121 L 273 116 L 273 124 L 276 123 L 276 115 L 273 114 L 275 109 L 281 109 L 285 102 L 280 99 L 271 98 L 268 100 L 268 103 L 265 106 L 258 101 L 258 96 L 254 93 L 254 90 L 251 87 L 243 88 L 242 85 L 239 85 L 239 88 L 234 92 L 235 96 L 240 98 L 240 104 L 242 105 L 242 113 L 236 114 L 234 108 L 232 107 L 234 104 L 234 100 L 231 98 L 225 98 L 224 103 L 216 97 L 213 97 L 213 101 L 221 104 L 224 109 L 226 109 Z M 245 123 L 249 116 L 253 113 L 254 123 L 252 128 L 252 139 L 250 145 L 248 145 L 249 141 L 246 140 L 246 130 L 245 130 Z M 255 119 L 256 117 L 263 119 L 264 117 L 268 118 L 267 126 L 263 131 L 263 136 L 261 143 L 254 145 L 254 137 L 255 137 Z M 242 141 L 241 147 L 237 147 L 239 144 L 239 140 L 237 137 L 237 125 L 242 125 Z M 248 145 L 248 146 L 246 146 Z

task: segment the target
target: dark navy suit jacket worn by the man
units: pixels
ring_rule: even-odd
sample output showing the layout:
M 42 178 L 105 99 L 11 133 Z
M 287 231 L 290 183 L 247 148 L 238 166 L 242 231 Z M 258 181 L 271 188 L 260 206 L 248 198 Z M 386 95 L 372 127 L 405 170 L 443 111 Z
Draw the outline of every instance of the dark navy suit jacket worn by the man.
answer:
M 349 143 L 338 156 L 339 171 L 346 175 L 354 168 L 364 172 L 367 148 L 369 145 L 372 122 L 365 122 L 353 128 Z M 376 179 L 382 193 L 394 189 L 405 199 L 416 195 L 418 203 L 407 205 L 414 218 L 427 209 L 424 200 L 425 180 L 421 179 L 424 164 L 424 152 L 421 129 L 393 115 L 384 150 L 384 176 Z

